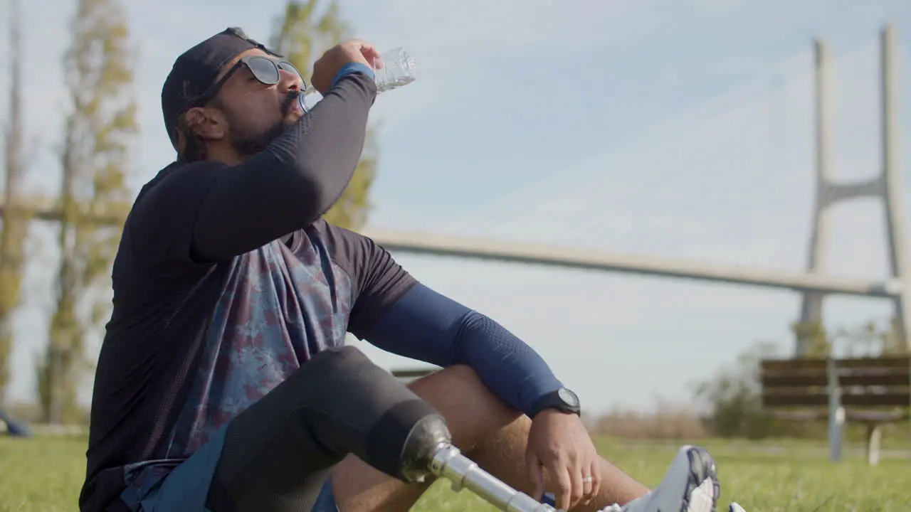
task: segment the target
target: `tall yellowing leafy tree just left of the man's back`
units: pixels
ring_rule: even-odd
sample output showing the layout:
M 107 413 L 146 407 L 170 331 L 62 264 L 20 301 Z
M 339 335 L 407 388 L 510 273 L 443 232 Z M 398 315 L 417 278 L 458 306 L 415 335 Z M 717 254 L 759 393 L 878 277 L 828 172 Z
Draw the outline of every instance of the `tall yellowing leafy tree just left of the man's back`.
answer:
M 97 219 L 129 199 L 128 150 L 138 132 L 136 103 L 129 94 L 134 56 L 118 0 L 77 0 L 70 29 L 64 67 L 72 105 L 61 153 L 56 311 L 38 368 L 39 401 L 50 423 L 77 413 L 77 385 L 88 366 L 86 334 L 109 312 L 102 278 L 109 274 L 126 218 L 121 213 L 115 225 Z

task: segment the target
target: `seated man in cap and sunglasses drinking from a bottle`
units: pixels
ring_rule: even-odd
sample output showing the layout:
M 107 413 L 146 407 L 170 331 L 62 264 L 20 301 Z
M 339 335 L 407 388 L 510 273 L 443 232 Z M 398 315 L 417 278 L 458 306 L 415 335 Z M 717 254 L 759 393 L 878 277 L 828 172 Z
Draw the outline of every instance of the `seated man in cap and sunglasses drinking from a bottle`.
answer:
M 320 219 L 360 159 L 377 57 L 328 50 L 307 113 L 297 70 L 240 29 L 175 62 L 162 110 L 178 159 L 124 227 L 80 508 L 405 510 L 427 484 L 395 478 L 367 424 L 429 404 L 468 456 L 558 507 L 713 510 L 704 451 L 681 450 L 649 492 L 599 458 L 525 343 Z M 444 369 L 405 388 L 346 332 Z

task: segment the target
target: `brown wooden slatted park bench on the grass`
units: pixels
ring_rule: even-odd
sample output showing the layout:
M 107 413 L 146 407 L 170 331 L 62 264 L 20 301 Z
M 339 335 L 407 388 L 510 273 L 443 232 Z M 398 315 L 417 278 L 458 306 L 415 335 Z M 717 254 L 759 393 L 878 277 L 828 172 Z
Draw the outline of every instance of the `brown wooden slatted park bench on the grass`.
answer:
M 776 417 L 828 419 L 829 452 L 841 459 L 847 421 L 866 425 L 866 456 L 879 462 L 881 425 L 909 416 L 911 357 L 801 358 L 760 363 L 763 407 Z

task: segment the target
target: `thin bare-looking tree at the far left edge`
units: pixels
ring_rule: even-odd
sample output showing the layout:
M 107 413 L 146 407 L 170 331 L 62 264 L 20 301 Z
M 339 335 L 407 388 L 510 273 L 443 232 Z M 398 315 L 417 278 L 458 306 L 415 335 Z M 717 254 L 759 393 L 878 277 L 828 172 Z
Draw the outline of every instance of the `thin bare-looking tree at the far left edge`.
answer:
M 21 204 L 22 179 L 26 173 L 23 152 L 22 119 L 22 34 L 19 29 L 19 3 L 14 0 L 10 9 L 9 111 L 5 133 L 4 156 L 6 181 L 4 210 L 0 219 L 0 407 L 4 404 L 5 388 L 9 384 L 9 357 L 13 352 L 13 313 L 21 304 L 22 275 L 26 239 L 31 214 Z

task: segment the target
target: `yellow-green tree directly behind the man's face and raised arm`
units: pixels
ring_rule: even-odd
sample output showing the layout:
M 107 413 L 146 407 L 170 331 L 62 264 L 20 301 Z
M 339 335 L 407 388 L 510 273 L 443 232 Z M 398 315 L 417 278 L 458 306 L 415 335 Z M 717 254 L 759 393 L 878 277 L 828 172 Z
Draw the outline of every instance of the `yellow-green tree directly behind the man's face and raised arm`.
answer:
M 284 12 L 275 19 L 270 39 L 271 48 L 297 67 L 307 84 L 313 61 L 342 42 L 349 30 L 335 0 L 322 14 L 317 12 L 320 4 L 319 0 L 289 0 Z M 374 184 L 377 159 L 374 130 L 368 128 L 361 161 L 342 197 L 323 215 L 326 221 L 351 230 L 363 228 L 371 208 L 370 187 Z

